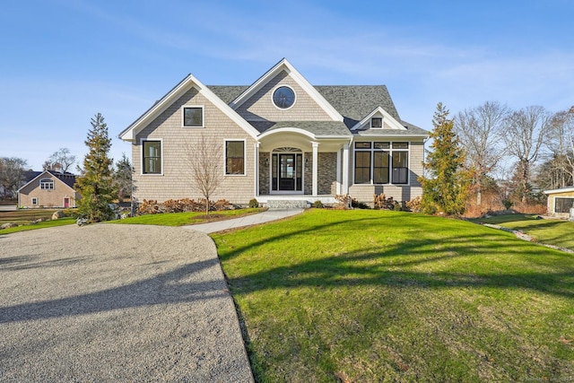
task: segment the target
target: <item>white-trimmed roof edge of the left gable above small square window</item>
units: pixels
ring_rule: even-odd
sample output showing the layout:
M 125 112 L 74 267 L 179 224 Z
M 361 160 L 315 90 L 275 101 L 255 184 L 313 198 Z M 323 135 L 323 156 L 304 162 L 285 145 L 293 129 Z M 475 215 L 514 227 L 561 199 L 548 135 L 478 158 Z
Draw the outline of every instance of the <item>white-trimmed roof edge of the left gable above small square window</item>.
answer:
M 207 100 L 213 103 L 216 107 L 222 110 L 232 121 L 242 127 L 249 135 L 256 137 L 257 130 L 248 124 L 248 122 L 239 116 L 237 112 L 230 108 L 227 103 L 222 101 L 220 97 L 215 95 L 208 87 L 196 79 L 193 74 L 187 74 L 187 77 L 180 81 L 171 91 L 169 91 L 161 100 L 147 109 L 140 118 L 137 118 L 130 126 L 121 132 L 118 136 L 124 141 L 132 141 L 135 135 L 140 132 L 145 126 L 148 126 L 155 118 L 161 115 L 163 111 L 168 109 L 176 100 L 178 100 L 186 91 L 196 88 Z

